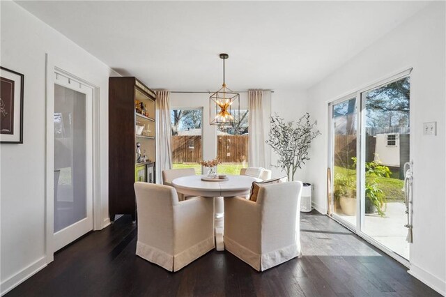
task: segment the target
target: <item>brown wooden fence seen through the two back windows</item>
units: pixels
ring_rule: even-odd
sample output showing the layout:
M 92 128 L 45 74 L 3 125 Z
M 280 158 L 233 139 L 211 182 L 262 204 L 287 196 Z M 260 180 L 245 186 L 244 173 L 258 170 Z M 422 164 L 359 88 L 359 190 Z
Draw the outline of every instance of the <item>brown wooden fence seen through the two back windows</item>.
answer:
M 201 135 L 172 136 L 172 162 L 197 163 L 202 160 Z M 222 162 L 238 163 L 248 160 L 248 135 L 219 135 L 217 158 Z

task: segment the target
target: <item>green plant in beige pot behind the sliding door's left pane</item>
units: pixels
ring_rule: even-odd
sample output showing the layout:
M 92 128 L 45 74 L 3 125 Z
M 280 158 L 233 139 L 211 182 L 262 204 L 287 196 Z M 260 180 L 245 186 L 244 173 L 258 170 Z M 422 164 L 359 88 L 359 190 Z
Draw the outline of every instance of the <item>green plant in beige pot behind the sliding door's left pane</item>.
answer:
M 344 214 L 356 215 L 356 178 L 354 174 L 336 174 L 333 195 L 334 199 L 339 201 Z

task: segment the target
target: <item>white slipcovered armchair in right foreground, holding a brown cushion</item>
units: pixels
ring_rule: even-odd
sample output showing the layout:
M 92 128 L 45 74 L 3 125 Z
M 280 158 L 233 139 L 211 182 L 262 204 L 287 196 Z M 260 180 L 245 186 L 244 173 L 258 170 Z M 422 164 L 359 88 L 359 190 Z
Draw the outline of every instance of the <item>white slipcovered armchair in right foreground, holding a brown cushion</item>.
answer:
M 257 271 L 300 255 L 302 183 L 262 185 L 257 201 L 224 199 L 224 246 Z

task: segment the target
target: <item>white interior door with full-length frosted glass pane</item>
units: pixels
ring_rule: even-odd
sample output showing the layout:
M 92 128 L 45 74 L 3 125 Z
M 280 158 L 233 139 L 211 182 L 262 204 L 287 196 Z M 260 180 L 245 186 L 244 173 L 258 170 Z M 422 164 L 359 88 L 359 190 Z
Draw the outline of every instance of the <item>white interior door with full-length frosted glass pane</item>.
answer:
M 54 251 L 93 229 L 93 89 L 55 75 Z

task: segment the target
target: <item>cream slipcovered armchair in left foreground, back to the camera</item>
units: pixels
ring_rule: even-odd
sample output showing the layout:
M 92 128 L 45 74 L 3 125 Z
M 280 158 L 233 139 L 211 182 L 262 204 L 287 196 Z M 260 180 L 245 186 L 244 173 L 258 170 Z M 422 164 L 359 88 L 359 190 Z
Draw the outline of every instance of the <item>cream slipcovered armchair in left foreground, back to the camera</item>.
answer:
M 137 196 L 136 254 L 168 271 L 178 271 L 215 248 L 214 201 L 178 201 L 169 185 L 134 183 Z

